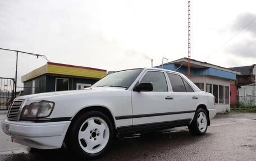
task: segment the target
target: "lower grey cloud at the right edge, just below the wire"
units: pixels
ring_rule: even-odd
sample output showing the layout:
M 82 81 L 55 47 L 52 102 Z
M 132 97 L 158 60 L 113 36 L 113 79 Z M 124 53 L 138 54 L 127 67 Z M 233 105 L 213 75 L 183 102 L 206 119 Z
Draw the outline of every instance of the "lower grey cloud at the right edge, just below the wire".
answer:
M 256 56 L 256 42 L 255 39 L 243 40 L 240 43 L 235 43 L 232 47 L 227 49 L 228 52 L 247 58 L 255 58 Z

